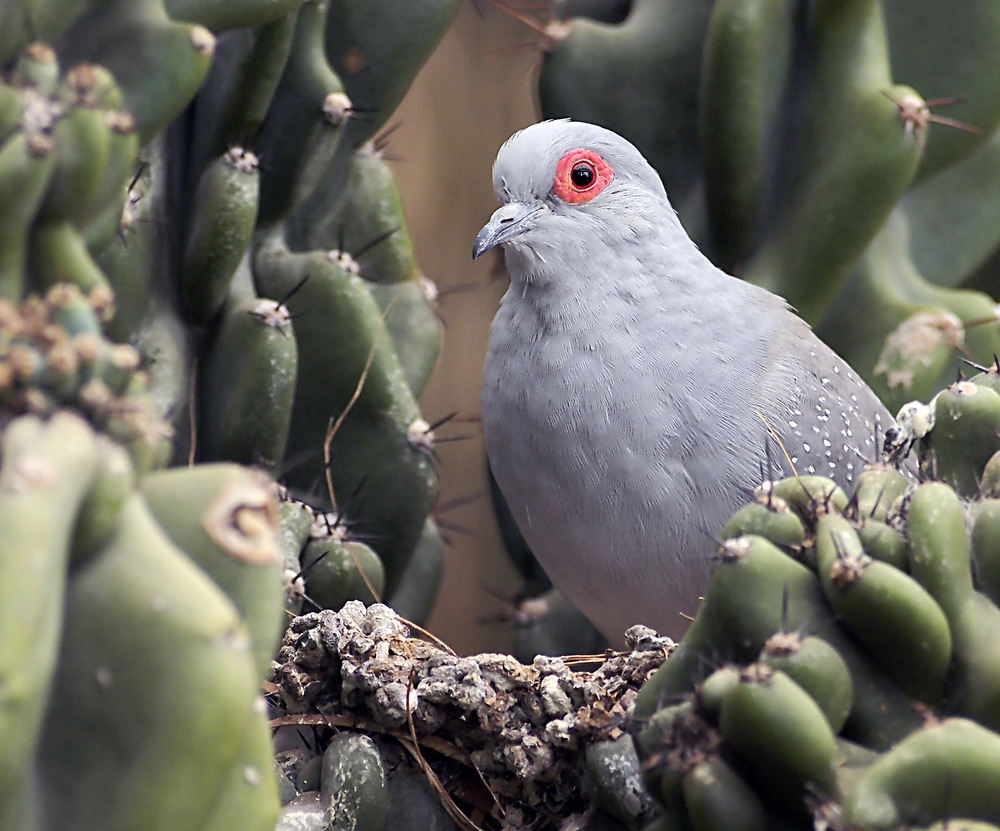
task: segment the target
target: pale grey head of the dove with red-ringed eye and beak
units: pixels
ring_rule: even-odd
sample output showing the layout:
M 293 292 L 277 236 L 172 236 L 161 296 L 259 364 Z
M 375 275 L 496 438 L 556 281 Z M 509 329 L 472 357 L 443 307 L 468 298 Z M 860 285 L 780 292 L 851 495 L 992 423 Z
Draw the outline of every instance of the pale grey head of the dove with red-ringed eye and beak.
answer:
M 500 245 L 526 263 L 587 257 L 661 233 L 676 215 L 656 171 L 629 142 L 579 121 L 543 121 L 511 136 L 493 165 L 502 203 L 473 258 Z

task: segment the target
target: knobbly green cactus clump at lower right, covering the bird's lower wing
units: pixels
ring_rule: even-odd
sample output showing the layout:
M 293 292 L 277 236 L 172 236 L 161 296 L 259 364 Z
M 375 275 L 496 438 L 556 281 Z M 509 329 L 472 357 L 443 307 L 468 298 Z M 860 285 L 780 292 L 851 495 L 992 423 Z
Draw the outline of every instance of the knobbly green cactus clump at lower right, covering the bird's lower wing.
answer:
M 1000 770 L 997 512 L 978 493 L 994 453 L 984 426 L 994 383 L 990 369 L 942 390 L 911 408 L 926 421 L 901 418 L 890 435 L 890 450 L 916 444 L 925 475 L 945 481 L 907 484 L 871 466 L 846 504 L 799 504 L 798 540 L 774 523 L 747 533 L 743 512 L 733 518 L 746 535 L 721 544 L 694 623 L 636 700 L 647 787 L 667 817 L 694 829 L 730 815 L 788 828 L 1000 820 L 990 796 Z M 876 516 L 900 539 L 893 563 L 864 537 Z M 701 755 L 693 720 L 713 737 L 698 740 Z M 709 761 L 722 769 L 711 810 L 699 790 Z

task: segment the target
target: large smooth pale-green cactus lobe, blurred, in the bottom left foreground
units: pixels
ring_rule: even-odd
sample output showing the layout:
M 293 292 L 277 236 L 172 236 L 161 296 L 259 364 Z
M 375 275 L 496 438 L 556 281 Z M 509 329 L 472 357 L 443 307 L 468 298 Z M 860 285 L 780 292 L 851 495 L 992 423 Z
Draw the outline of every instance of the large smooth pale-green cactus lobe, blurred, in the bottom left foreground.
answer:
M 133 493 L 116 532 L 67 588 L 37 758 L 49 821 L 201 827 L 245 731 L 263 718 L 257 678 L 236 608 Z M 251 763 L 271 769 L 269 755 Z M 261 775 L 257 787 L 274 783 Z M 273 822 L 276 800 L 268 802 L 253 827 Z

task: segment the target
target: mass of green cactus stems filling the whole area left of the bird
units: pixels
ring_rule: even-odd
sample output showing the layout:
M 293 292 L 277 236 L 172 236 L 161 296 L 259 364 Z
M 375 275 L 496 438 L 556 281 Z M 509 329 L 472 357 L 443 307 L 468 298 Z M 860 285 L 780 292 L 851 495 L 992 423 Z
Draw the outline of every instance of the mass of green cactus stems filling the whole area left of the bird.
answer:
M 440 581 L 441 326 L 372 139 L 458 0 L 7 6 L 0 829 L 264 831 L 289 615 Z

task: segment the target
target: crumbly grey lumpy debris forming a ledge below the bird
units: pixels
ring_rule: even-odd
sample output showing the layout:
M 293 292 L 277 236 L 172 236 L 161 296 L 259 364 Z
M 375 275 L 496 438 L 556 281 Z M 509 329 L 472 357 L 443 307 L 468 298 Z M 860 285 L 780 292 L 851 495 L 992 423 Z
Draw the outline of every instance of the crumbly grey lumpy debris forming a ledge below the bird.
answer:
M 566 816 L 586 811 L 600 788 L 583 751 L 621 739 L 638 689 L 673 645 L 645 627 L 627 639 L 631 651 L 609 651 L 588 672 L 561 658 L 461 657 L 411 637 L 389 607 L 351 601 L 292 621 L 274 681 L 287 713 L 353 716 L 383 736 L 408 734 L 412 722 L 418 738 L 468 754 L 505 809 Z M 638 824 L 649 799 L 629 799 L 622 810 Z

